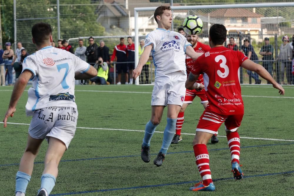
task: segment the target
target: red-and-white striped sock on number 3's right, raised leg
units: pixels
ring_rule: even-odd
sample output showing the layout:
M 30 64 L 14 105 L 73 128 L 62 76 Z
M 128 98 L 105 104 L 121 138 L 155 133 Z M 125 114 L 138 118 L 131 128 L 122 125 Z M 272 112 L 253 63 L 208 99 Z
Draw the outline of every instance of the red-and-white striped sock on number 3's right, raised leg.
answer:
M 238 164 L 240 164 L 240 137 L 238 132 L 230 132 L 229 134 L 227 134 L 227 139 L 231 151 L 231 163 L 236 161 Z

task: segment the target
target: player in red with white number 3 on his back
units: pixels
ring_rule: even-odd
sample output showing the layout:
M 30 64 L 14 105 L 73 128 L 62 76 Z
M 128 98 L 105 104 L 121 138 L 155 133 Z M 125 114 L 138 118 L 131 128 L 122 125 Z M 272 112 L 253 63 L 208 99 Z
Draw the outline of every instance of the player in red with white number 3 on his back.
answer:
M 193 149 L 196 165 L 202 177 L 202 182 L 190 188 L 192 191 L 214 191 L 209 168 L 209 155 L 206 144 L 213 134 L 217 134 L 220 125 L 225 123 L 228 145 L 231 152 L 233 176 L 236 180 L 243 178 L 239 165 L 240 138 L 238 128 L 244 114 L 244 105 L 239 83 L 240 66 L 258 73 L 269 81 L 274 88 L 284 95 L 285 90 L 279 85 L 261 65 L 250 61 L 240 51 L 233 51 L 223 46 L 227 30 L 221 24 L 214 24 L 209 30 L 209 44 L 211 49 L 200 56 L 193 66 L 186 88 L 193 90 L 198 84 L 200 74 L 203 74 L 208 105 L 201 115 L 196 135 L 193 140 Z

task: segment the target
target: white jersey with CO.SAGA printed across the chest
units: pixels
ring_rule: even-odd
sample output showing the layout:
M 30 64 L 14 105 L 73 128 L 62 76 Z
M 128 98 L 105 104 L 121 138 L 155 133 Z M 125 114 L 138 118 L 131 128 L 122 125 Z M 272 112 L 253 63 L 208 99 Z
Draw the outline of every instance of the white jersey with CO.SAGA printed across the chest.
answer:
M 145 46 L 153 43 L 152 57 L 155 66 L 155 75 L 182 71 L 185 75 L 185 52 L 191 43 L 180 33 L 157 28 L 145 38 Z

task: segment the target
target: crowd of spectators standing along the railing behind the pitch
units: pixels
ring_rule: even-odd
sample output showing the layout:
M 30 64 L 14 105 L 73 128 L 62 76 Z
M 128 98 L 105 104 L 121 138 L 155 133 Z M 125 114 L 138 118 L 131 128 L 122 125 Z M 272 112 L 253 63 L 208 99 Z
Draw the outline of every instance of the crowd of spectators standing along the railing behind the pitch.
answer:
M 182 28 L 179 29 L 179 32 L 185 33 Z M 294 84 L 294 35 L 292 36 L 292 41 L 287 35 L 283 36 L 283 43 L 279 47 L 279 53 L 276 59 L 274 59 L 274 47 L 270 44 L 269 38 L 264 38 L 264 45 L 260 48 L 259 54 L 262 56 L 262 65 L 270 73 L 271 76 L 274 76 L 276 81 L 280 84 Z M 99 41 L 99 46 L 95 43 L 93 37 L 88 38 L 89 45 L 84 46 L 82 39 L 78 41 L 78 47 L 75 48 L 71 46 L 68 41 L 58 40 L 57 45 L 53 41 L 52 46 L 60 48 L 66 51 L 69 51 L 83 61 L 86 61 L 90 65 L 94 66 L 98 75 L 95 78 L 90 79 L 89 81 L 80 81 L 80 84 L 110 84 L 112 83 L 112 78 L 110 77 L 111 67 L 113 63 L 116 63 L 116 73 L 117 73 L 117 83 L 121 84 L 122 78 L 121 73 L 124 73 L 125 84 L 133 84 L 133 79 L 129 76 L 132 75 L 132 71 L 135 68 L 135 44 L 131 37 L 127 38 L 128 45 L 125 45 L 125 39 L 120 38 L 120 42 L 113 48 L 113 54 L 110 56 L 109 48 L 105 45 L 103 40 Z M 26 49 L 22 46 L 21 42 L 17 43 L 17 48 L 15 52 L 11 49 L 11 43 L 5 43 L 5 50 L 0 46 L 0 84 L 5 86 L 6 84 L 13 84 L 13 69 L 15 70 L 15 78 L 17 79 L 22 71 L 22 62 L 24 58 L 29 55 Z M 139 57 L 141 56 L 144 50 L 144 40 L 140 40 L 140 46 L 138 47 Z M 229 44 L 226 46 L 231 50 L 238 51 L 238 45 L 235 43 L 233 37 L 229 38 Z M 260 62 L 258 56 L 254 51 L 253 46 L 250 44 L 249 39 L 243 40 L 243 45 L 240 46 L 240 51 L 242 51 L 248 58 L 256 63 Z M 150 53 L 148 62 L 143 66 L 142 73 L 140 75 L 140 83 L 149 83 L 149 65 L 151 64 L 152 56 Z M 273 64 L 275 63 L 275 70 Z M 286 74 L 285 74 L 286 72 Z M 242 83 L 242 74 L 241 70 L 240 79 Z M 260 84 L 261 80 L 258 77 L 258 74 L 252 71 L 247 71 L 249 76 L 249 83 L 252 83 L 252 78 L 255 81 L 255 84 Z M 286 75 L 286 78 L 284 78 Z M 115 76 L 114 76 L 115 77 Z M 285 82 L 287 81 L 287 82 Z

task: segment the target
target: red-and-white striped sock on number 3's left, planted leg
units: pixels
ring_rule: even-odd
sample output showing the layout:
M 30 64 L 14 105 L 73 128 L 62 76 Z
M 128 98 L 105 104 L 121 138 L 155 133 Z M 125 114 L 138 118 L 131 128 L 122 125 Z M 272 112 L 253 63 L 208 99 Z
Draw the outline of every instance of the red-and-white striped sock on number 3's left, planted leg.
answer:
M 204 186 L 208 186 L 212 182 L 211 172 L 209 168 L 209 155 L 205 144 L 196 144 L 193 146 L 196 158 L 196 165 L 202 177 Z

